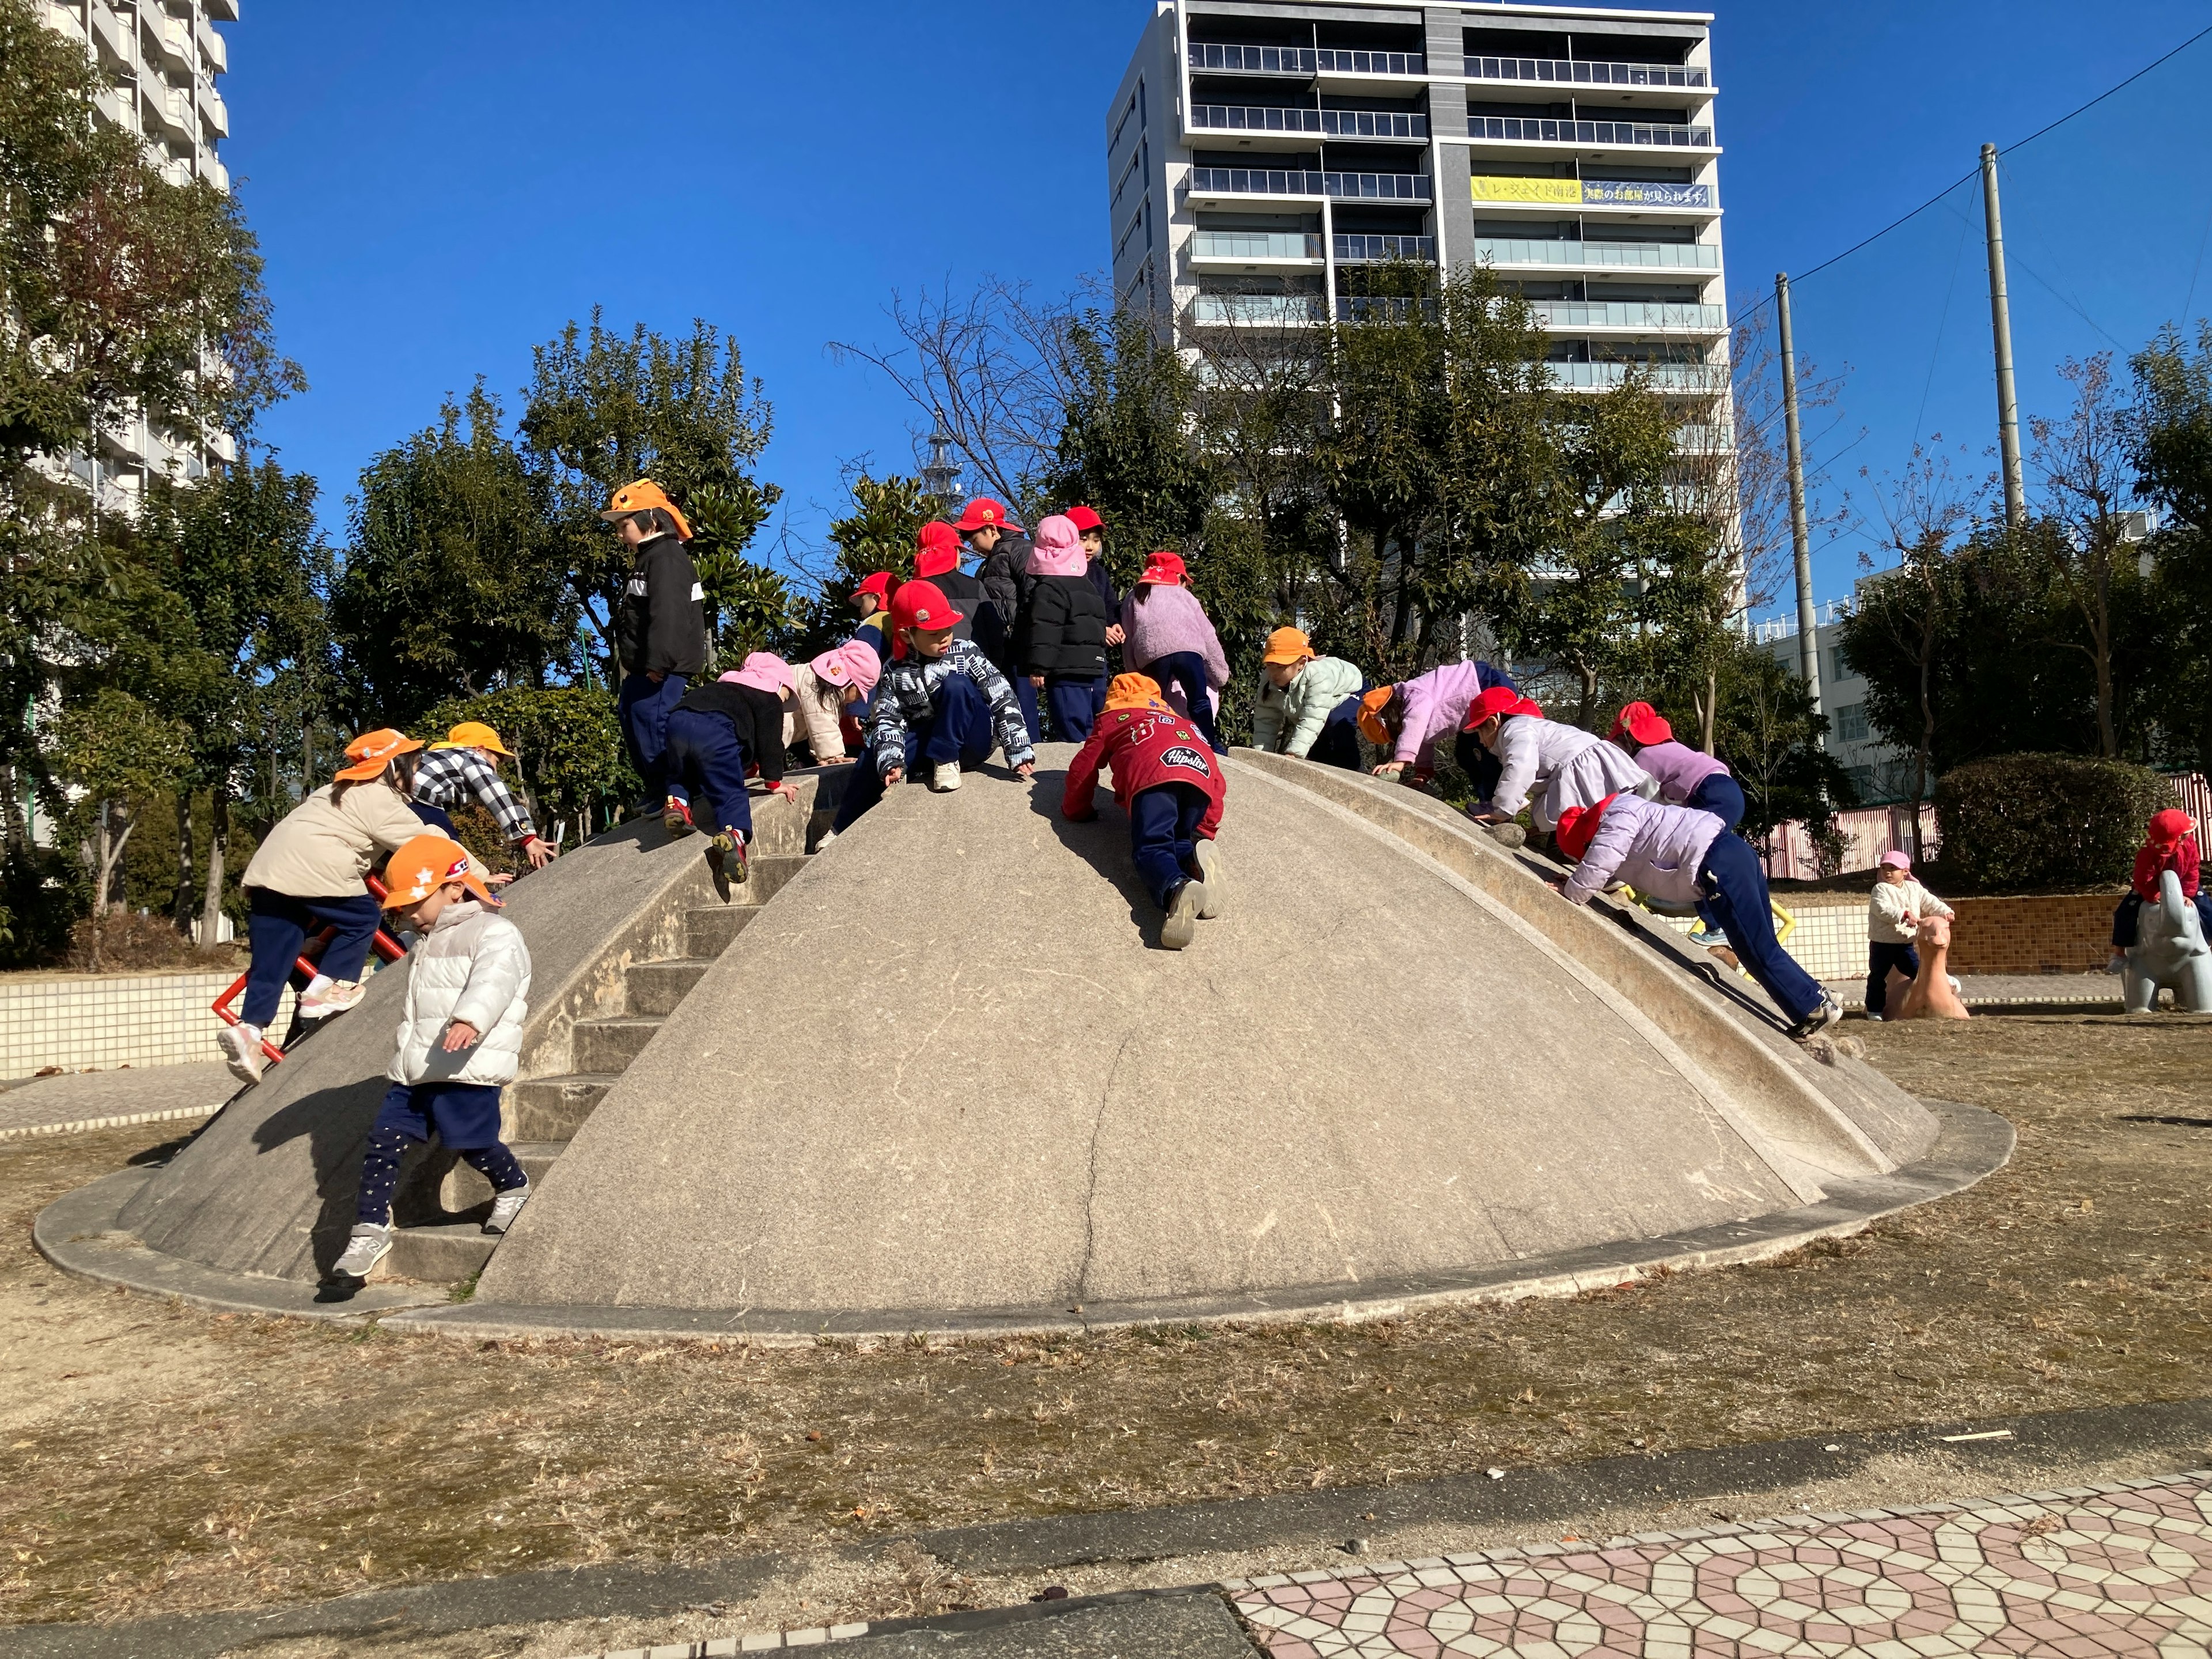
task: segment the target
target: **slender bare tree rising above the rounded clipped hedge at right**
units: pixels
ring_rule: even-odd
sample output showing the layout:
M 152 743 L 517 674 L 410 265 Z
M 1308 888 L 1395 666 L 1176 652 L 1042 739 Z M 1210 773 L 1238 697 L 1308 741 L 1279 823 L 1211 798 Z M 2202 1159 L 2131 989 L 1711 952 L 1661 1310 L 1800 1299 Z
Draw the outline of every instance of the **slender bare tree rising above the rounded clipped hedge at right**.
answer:
M 2128 511 L 2135 467 L 2128 460 L 2128 407 L 2112 385 L 2112 354 L 2086 363 L 2068 358 L 2059 374 L 2075 389 L 2073 409 L 2048 420 L 2033 416 L 2035 473 L 2042 484 L 2044 524 L 2035 551 L 2051 566 L 2059 591 L 2088 633 L 2075 650 L 2097 672 L 2097 748 L 2119 754 L 2112 719 L 2112 582 L 2128 553 Z

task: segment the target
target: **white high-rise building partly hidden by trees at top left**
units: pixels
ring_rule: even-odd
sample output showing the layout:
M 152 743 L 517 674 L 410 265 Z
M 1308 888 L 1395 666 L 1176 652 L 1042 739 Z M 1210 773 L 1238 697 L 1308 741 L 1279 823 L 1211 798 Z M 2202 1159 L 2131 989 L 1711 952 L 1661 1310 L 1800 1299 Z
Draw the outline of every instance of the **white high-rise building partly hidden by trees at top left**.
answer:
M 102 119 L 135 133 L 170 184 L 206 179 L 230 188 L 215 153 L 230 135 L 230 111 L 215 88 L 230 51 L 215 24 L 239 20 L 237 0 L 44 0 L 42 11 L 46 27 L 77 42 L 93 64 Z M 197 478 L 210 458 L 232 458 L 228 436 L 206 445 L 142 409 L 102 434 L 97 453 L 73 458 L 71 469 L 102 511 L 133 513 L 148 476 Z

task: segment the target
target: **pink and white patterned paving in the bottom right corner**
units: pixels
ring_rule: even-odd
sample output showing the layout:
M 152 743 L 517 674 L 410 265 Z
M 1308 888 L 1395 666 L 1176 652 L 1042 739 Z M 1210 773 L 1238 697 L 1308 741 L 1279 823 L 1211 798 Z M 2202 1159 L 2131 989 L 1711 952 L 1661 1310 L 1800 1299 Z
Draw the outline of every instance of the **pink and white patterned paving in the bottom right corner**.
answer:
M 2212 1473 L 1225 1586 L 1272 1659 L 2212 1655 Z

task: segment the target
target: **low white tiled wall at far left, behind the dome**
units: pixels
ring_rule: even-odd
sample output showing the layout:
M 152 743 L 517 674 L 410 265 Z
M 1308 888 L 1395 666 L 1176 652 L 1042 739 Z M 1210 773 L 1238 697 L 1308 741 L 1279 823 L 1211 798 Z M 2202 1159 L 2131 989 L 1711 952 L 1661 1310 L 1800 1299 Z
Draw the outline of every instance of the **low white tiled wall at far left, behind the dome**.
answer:
M 0 1077 L 49 1066 L 181 1066 L 221 1060 L 208 1011 L 237 973 L 11 973 L 0 978 Z M 292 993 L 276 1031 L 292 1020 Z

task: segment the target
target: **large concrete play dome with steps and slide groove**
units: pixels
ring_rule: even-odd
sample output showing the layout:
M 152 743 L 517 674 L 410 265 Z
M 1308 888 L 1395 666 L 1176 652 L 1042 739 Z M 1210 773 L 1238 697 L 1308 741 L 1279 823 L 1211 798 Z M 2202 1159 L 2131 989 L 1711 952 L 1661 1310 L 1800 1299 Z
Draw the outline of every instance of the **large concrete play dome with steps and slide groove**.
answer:
M 657 825 L 518 885 L 507 1133 L 538 1192 L 504 1241 L 453 1219 L 489 1194 L 429 1150 L 403 1276 L 316 1301 L 394 969 L 164 1168 L 49 1208 L 40 1245 L 210 1305 L 471 1336 L 1332 1318 L 1754 1259 L 2011 1152 L 1442 803 L 1303 761 L 1237 752 L 1230 911 L 1161 951 L 1110 796 L 1060 818 L 1066 759 L 894 790 L 812 858 L 825 774 L 799 774 L 728 907 Z

